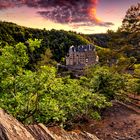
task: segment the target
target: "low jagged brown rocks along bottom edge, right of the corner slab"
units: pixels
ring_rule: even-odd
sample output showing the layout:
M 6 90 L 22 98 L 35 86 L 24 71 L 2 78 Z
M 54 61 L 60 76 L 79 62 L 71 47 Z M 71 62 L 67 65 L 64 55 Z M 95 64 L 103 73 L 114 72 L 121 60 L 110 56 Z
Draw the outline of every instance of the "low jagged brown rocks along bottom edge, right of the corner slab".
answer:
M 66 132 L 60 127 L 47 128 L 43 124 L 29 125 L 26 128 L 37 140 L 99 140 L 87 132 Z

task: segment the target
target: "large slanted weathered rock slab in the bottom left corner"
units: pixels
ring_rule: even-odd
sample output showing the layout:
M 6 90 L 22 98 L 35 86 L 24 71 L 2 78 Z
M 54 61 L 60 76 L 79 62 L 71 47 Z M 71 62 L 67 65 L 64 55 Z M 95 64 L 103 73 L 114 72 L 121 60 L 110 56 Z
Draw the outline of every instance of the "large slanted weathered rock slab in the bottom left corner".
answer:
M 34 140 L 24 125 L 0 109 L 0 140 Z

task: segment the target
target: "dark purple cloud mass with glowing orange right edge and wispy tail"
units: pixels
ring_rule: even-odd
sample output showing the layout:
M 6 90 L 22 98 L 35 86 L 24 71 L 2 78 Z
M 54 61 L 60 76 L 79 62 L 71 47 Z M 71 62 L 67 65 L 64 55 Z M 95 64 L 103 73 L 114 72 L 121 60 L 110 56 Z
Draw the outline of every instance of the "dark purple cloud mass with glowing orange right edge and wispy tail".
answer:
M 111 26 L 111 22 L 103 22 L 96 16 L 98 0 L 0 0 L 0 9 L 26 5 L 42 9 L 38 11 L 42 17 L 61 24 L 79 26 Z

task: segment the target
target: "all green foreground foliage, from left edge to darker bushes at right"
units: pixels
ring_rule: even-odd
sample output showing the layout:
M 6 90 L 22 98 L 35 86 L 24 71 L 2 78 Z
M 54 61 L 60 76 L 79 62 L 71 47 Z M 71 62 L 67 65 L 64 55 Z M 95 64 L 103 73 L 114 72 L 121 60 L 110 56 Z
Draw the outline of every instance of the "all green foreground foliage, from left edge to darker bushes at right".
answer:
M 27 45 L 35 51 L 39 44 L 40 40 L 30 40 Z M 139 94 L 139 80 L 109 67 L 87 68 L 80 79 L 59 77 L 56 68 L 45 63 L 35 71 L 27 70 L 28 49 L 23 43 L 6 45 L 0 55 L 0 107 L 24 123 L 65 126 L 83 116 L 101 119 L 100 110 L 110 106 L 112 99 L 132 92 L 134 85 L 133 92 Z M 51 57 L 51 52 L 46 53 Z

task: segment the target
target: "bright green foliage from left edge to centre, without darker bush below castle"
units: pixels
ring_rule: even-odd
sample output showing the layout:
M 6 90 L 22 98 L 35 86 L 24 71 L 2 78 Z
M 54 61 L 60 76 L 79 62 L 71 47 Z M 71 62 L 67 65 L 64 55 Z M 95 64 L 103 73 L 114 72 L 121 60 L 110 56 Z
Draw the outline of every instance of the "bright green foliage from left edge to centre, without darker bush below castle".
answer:
M 30 40 L 28 45 L 33 48 L 38 43 Z M 98 111 L 110 105 L 103 95 L 81 86 L 79 80 L 58 77 L 52 66 L 27 70 L 28 62 L 23 43 L 1 50 L 0 107 L 20 121 L 67 124 L 82 116 L 99 119 Z

